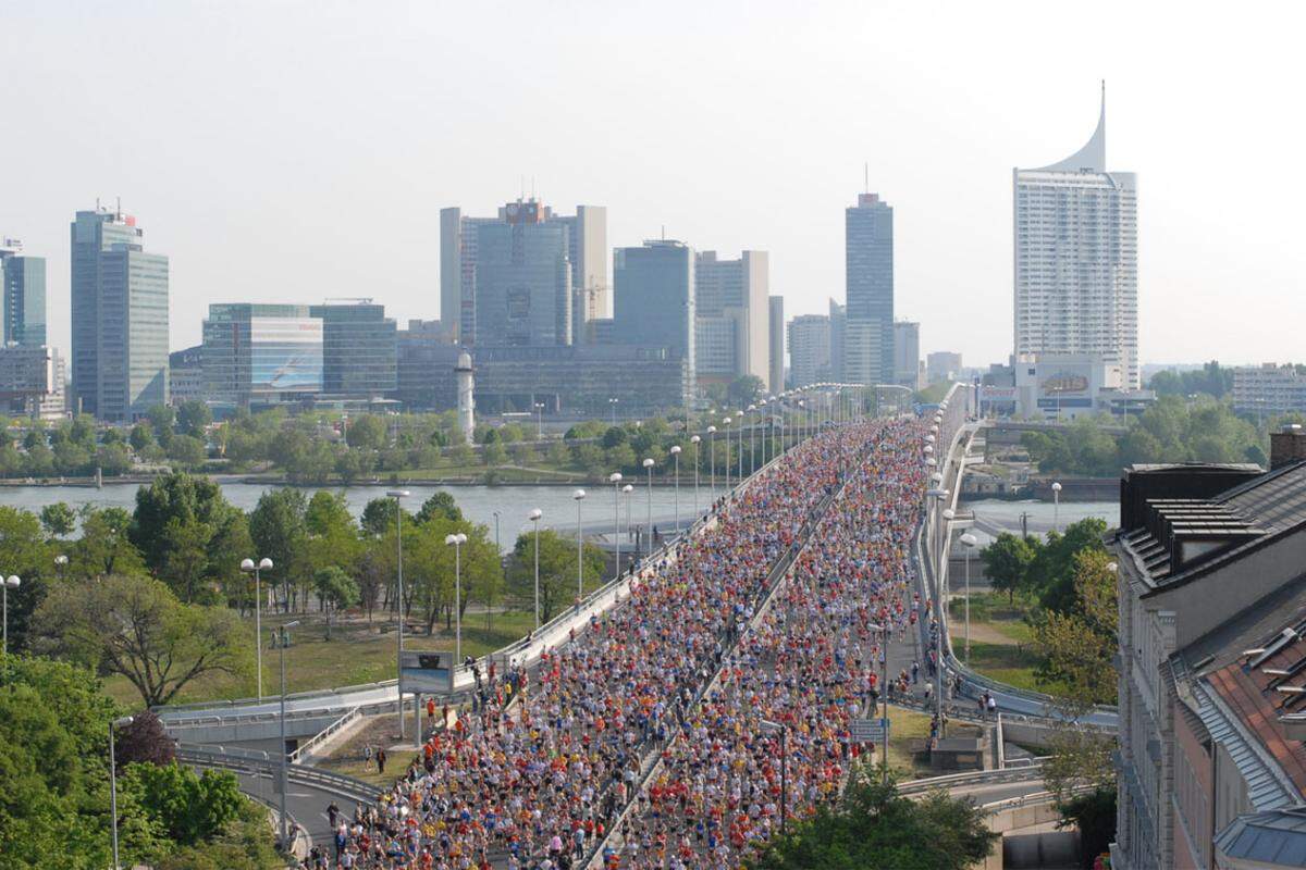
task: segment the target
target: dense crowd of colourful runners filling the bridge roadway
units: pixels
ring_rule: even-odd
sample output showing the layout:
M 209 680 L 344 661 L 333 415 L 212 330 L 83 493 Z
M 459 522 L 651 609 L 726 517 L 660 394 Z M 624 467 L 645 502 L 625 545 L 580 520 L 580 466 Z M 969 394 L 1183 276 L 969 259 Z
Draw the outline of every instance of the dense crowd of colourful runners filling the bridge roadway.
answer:
M 726 870 L 837 797 L 872 749 L 849 720 L 871 715 L 887 643 L 929 620 L 909 560 L 922 434 L 868 421 L 798 445 L 627 601 L 529 672 L 486 673 L 377 806 L 333 820 L 332 863 L 569 870 L 615 827 L 606 867 Z

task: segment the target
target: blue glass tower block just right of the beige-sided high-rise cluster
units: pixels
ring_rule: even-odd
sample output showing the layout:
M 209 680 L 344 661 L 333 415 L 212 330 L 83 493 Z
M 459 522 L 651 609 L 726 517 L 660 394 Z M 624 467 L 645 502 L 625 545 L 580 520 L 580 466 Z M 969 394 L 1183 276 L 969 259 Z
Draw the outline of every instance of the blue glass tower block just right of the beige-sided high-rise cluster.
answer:
M 695 383 L 693 249 L 661 239 L 613 252 L 614 329 L 623 344 L 666 348 Z

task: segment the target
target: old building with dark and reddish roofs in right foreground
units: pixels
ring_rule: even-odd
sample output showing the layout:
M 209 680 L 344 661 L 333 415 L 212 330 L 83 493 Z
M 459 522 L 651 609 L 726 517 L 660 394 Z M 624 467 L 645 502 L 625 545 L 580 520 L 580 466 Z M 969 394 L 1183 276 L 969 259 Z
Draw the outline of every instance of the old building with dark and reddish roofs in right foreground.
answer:
M 1294 429 L 1275 433 L 1268 472 L 1124 472 L 1113 867 L 1306 860 L 1302 459 Z

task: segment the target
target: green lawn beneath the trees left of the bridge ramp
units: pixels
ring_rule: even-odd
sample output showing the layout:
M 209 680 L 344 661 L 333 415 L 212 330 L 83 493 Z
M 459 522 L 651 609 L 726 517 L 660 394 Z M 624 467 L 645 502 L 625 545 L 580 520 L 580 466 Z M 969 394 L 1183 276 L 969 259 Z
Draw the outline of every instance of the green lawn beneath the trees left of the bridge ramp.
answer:
M 317 613 L 268 614 L 263 617 L 264 637 L 290 618 L 300 623 L 290 630 L 291 646 L 286 650 L 286 691 L 311 691 L 315 689 L 334 689 L 379 680 L 393 680 L 396 676 L 396 634 L 394 622 L 376 614 L 368 625 L 364 617 L 351 617 L 343 623 L 333 623 L 330 640 L 326 639 L 325 620 Z M 534 627 L 533 613 L 504 610 L 492 614 L 491 627 L 486 627 L 485 613 L 469 612 L 462 625 L 464 655 L 482 656 L 513 643 Z M 243 620 L 249 650 L 252 652 L 253 617 Z M 410 626 L 411 626 L 410 621 Z M 387 631 L 381 631 L 381 629 Z M 424 633 L 405 633 L 406 650 L 453 650 L 453 631 L 444 630 L 444 622 L 436 623 L 434 637 Z M 187 685 L 171 703 L 185 704 L 204 700 L 230 700 L 252 698 L 257 683 L 253 674 L 236 678 L 227 674 L 205 674 Z M 115 676 L 104 681 L 104 689 L 124 704 L 140 704 L 140 694 L 125 677 Z M 281 691 L 279 652 L 263 651 L 263 693 L 273 695 Z

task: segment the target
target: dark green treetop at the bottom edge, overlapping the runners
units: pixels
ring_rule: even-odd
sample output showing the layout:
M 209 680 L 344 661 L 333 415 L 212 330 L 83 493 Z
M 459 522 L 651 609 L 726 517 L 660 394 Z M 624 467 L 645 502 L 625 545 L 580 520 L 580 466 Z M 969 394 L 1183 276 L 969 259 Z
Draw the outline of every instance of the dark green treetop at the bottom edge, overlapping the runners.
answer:
M 942 789 L 919 801 L 853 772 L 837 807 L 820 806 L 790 822 L 750 867 L 757 870 L 965 870 L 989 856 L 1000 835 L 983 810 Z

